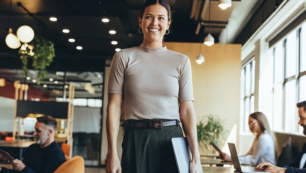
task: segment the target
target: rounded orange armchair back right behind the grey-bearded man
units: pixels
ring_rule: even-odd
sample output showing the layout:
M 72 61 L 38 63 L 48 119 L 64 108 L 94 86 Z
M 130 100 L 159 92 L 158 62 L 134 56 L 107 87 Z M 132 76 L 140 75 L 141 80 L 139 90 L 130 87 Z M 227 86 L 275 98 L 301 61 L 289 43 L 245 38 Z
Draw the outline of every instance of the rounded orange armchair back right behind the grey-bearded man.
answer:
M 68 158 L 53 173 L 84 173 L 84 159 L 81 156 Z

